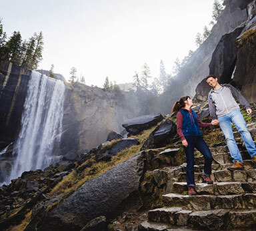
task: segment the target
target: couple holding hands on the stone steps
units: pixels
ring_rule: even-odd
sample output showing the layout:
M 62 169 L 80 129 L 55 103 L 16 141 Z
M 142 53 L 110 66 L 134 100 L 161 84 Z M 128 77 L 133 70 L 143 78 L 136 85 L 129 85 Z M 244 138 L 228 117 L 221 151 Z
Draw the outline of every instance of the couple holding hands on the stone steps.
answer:
M 231 157 L 233 158 L 233 165 L 228 169 L 231 171 L 243 170 L 243 159 L 235 142 L 231 126 L 232 122 L 240 132 L 253 162 L 256 163 L 255 144 L 246 127 L 240 107 L 237 104 L 237 102 L 240 103 L 247 111 L 247 115 L 251 115 L 252 110 L 249 103 L 232 85 L 220 85 L 217 77 L 209 75 L 206 81 L 212 87 L 208 96 L 209 111 L 212 118 L 211 123 L 201 122 L 197 114 L 191 109 L 193 102 L 188 96 L 181 97 L 173 106 L 173 112 L 177 112 L 177 132 L 181 137 L 187 158 L 186 178 L 189 195 L 197 194 L 195 192 L 194 148 L 197 148 L 205 159 L 203 180 L 208 184 L 213 184 L 213 180 L 210 177 L 213 158 L 209 147 L 202 138 L 199 127 L 219 124 L 225 136 Z

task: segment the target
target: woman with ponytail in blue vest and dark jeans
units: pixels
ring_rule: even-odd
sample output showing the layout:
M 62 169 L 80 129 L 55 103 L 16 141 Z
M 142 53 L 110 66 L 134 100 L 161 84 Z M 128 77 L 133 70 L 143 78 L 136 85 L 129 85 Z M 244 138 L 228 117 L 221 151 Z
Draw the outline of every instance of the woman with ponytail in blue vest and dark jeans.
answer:
M 205 164 L 203 168 L 203 180 L 207 184 L 213 184 L 211 180 L 211 162 L 213 157 L 209 147 L 203 140 L 199 126 L 211 126 L 212 123 L 201 122 L 197 114 L 191 109 L 193 105 L 190 97 L 181 97 L 173 106 L 173 112 L 177 113 L 177 132 L 181 137 L 183 148 L 187 158 L 186 178 L 189 195 L 197 194 L 195 192 L 195 174 L 194 174 L 194 148 L 203 154 Z

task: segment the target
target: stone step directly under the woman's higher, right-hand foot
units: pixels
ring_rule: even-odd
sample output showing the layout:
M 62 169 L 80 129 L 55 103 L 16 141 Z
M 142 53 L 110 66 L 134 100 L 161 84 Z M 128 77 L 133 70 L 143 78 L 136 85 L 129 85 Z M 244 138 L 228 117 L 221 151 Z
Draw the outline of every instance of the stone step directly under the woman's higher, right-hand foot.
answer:
M 233 195 L 256 193 L 256 182 L 215 182 L 214 184 L 199 183 L 196 184 L 197 194 L 203 195 Z M 173 183 L 173 193 L 187 193 L 186 182 Z

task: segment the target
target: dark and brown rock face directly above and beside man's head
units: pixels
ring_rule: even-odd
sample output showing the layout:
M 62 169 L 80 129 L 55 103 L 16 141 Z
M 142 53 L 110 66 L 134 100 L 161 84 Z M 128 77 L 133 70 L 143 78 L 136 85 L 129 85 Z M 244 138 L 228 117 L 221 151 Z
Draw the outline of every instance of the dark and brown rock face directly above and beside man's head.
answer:
M 229 1 L 226 2 L 229 3 Z M 211 56 L 209 73 L 217 76 L 220 83 L 231 83 L 237 87 L 249 103 L 253 103 L 256 99 L 254 91 L 256 84 L 256 1 L 247 1 L 247 3 L 249 4 L 246 5 L 245 1 L 243 4 L 239 3 L 241 11 L 246 9 L 247 18 L 231 33 L 221 37 Z M 231 1 L 229 4 L 231 4 Z M 234 5 L 235 1 L 232 4 Z M 199 101 L 206 100 L 209 90 L 210 87 L 203 79 L 197 85 L 195 99 Z

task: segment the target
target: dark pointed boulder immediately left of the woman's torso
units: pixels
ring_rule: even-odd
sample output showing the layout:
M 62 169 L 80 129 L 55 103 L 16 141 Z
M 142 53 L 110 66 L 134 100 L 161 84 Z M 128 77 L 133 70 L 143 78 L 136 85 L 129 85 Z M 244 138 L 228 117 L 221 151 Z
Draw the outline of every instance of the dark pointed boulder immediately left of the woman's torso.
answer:
M 141 150 L 166 146 L 171 142 L 171 139 L 175 134 L 177 134 L 176 124 L 168 119 L 163 120 L 155 130 L 151 132 L 149 138 L 145 140 Z

